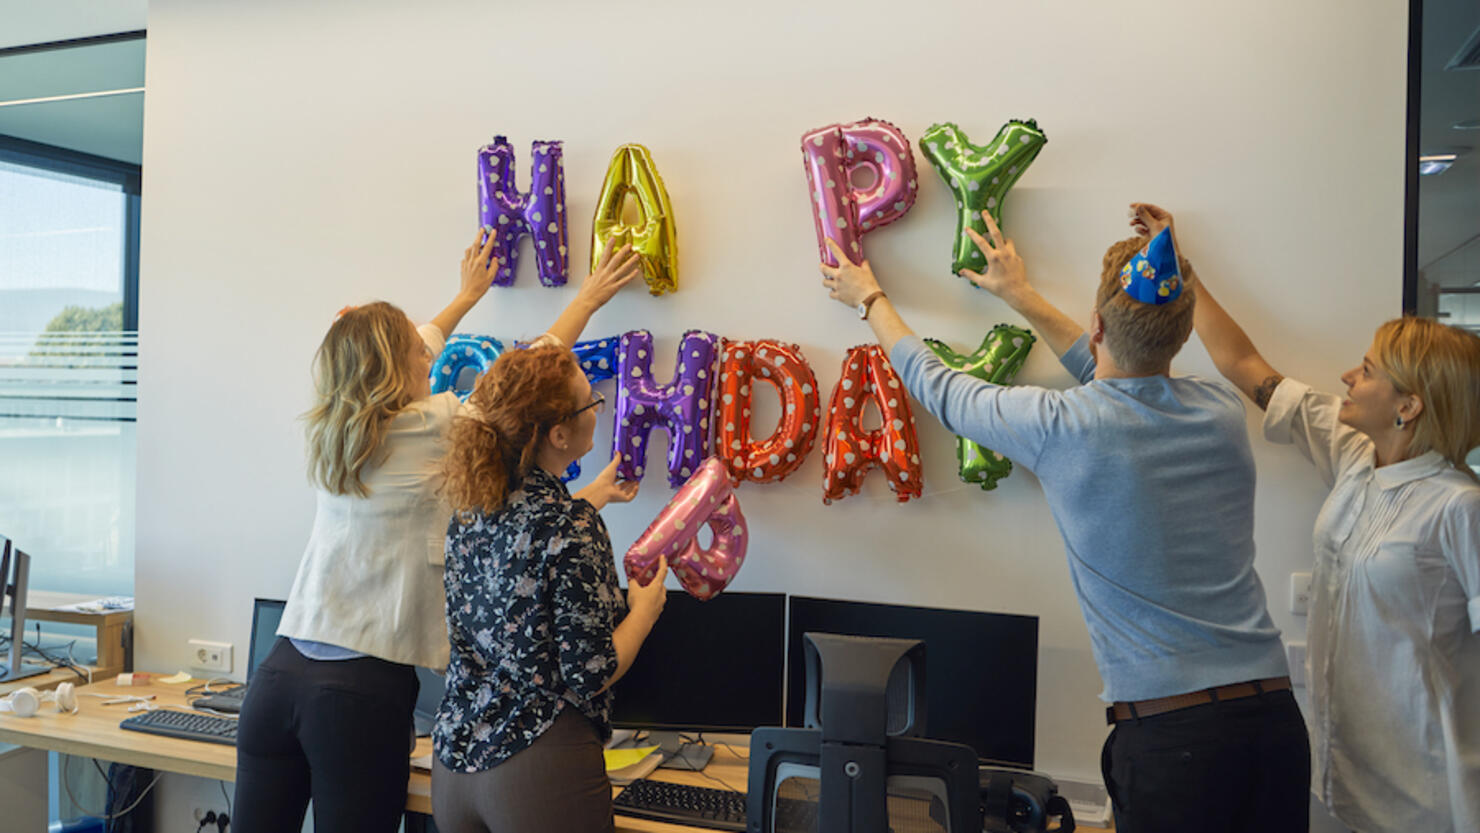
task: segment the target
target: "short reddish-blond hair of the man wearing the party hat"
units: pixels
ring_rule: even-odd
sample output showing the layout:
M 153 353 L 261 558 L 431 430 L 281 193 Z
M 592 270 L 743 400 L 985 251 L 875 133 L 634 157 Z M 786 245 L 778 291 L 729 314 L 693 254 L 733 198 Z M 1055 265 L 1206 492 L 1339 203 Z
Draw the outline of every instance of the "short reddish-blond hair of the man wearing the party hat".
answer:
M 1185 257 L 1183 294 L 1166 303 L 1141 303 L 1120 289 L 1120 269 L 1143 246 L 1144 237 L 1113 243 L 1106 250 L 1095 293 L 1095 311 L 1106 326 L 1106 346 L 1122 370 L 1153 373 L 1172 362 L 1193 331 L 1193 306 L 1197 303 L 1197 275 Z

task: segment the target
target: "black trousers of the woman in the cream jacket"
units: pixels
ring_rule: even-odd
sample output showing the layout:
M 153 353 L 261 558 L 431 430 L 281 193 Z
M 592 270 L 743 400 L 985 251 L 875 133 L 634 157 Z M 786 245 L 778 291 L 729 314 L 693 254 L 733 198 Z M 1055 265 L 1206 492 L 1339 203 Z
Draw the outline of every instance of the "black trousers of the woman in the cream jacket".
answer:
M 416 669 L 373 657 L 315 661 L 272 645 L 237 725 L 237 833 L 395 833 L 406 809 Z

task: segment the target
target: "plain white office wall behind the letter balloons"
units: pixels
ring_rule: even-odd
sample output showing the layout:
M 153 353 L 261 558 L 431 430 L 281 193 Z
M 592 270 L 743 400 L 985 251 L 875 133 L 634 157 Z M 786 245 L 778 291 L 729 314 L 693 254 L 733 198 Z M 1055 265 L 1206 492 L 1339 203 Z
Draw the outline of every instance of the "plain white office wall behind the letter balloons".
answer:
M 1008 198 L 1008 234 L 1076 317 L 1131 200 L 1177 212 L 1187 254 L 1289 374 L 1336 386 L 1399 311 L 1403 4 L 636 7 L 151 4 L 141 667 L 184 666 L 191 636 L 235 642 L 243 661 L 250 601 L 286 595 L 311 521 L 295 422 L 309 357 L 345 303 L 386 297 L 429 317 L 451 294 L 475 223 L 474 152 L 493 133 L 519 148 L 521 181 L 531 139 L 565 141 L 574 263 L 611 151 L 653 151 L 682 289 L 632 289 L 588 334 L 653 330 L 660 374 L 702 327 L 798 342 L 832 389 L 869 333 L 818 287 L 798 138 L 864 115 L 912 139 L 952 120 L 978 142 L 1037 118 L 1049 144 Z M 955 206 L 918 163 L 919 203 L 866 247 L 919 331 L 974 346 L 1015 317 L 946 274 Z M 573 291 L 540 287 L 525 262 L 463 328 L 537 333 Z M 1196 343 L 1178 370 L 1214 373 Z M 1067 385 L 1043 346 L 1020 380 Z M 823 506 L 815 451 L 783 484 L 744 485 L 753 542 L 736 589 L 1042 617 L 1039 765 L 1097 772 L 1098 676 L 1037 482 L 1020 471 L 995 493 L 963 487 L 952 436 L 925 419 L 921 439 L 926 497 L 904 506 L 878 475 Z M 1255 439 L 1255 454 L 1258 567 L 1276 621 L 1301 636 L 1285 584 L 1308 564 L 1322 494 L 1288 450 Z M 619 552 L 666 496 L 653 475 L 607 513 Z

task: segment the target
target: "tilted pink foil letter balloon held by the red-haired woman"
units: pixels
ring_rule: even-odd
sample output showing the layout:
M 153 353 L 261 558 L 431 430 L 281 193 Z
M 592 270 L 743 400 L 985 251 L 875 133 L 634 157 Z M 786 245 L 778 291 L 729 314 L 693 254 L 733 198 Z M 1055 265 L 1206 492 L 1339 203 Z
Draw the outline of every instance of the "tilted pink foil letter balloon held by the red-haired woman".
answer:
M 709 525 L 713 542 L 699 546 L 699 531 Z M 644 587 L 657 574 L 657 561 L 667 567 L 688 595 L 706 602 L 719 595 L 744 564 L 749 540 L 740 500 L 718 459 L 704 460 L 694 476 L 667 502 L 622 559 L 628 579 Z

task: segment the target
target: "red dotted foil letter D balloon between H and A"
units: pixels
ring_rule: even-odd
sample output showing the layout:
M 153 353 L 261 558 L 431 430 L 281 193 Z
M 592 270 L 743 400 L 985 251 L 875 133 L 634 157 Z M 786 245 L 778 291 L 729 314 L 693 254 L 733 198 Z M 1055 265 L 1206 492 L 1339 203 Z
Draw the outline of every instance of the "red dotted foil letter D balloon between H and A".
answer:
M 781 419 L 765 439 L 750 436 L 753 388 L 770 383 Z M 725 342 L 715 407 L 715 454 L 736 481 L 778 481 L 798 469 L 817 439 L 821 404 L 817 376 L 796 345 L 773 340 Z

